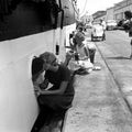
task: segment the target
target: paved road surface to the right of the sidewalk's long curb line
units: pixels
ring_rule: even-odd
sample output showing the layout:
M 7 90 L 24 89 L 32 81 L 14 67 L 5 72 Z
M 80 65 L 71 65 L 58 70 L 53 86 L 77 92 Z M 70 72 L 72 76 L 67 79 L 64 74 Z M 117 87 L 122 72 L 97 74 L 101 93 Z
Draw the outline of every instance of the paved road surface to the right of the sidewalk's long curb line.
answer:
M 112 38 L 112 40 L 111 40 Z M 132 109 L 132 59 L 130 55 L 130 38 L 125 32 L 107 33 L 107 41 L 96 43 L 114 81 Z

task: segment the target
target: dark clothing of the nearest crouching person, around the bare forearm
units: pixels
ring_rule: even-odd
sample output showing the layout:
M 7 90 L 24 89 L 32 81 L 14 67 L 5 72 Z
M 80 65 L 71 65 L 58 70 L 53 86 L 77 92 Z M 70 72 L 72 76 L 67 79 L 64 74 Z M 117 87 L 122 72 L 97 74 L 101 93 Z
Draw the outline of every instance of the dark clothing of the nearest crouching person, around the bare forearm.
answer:
M 38 101 L 41 105 L 47 105 L 54 110 L 68 109 L 72 106 L 74 99 L 74 79 L 70 76 L 70 70 L 59 65 L 59 68 L 56 73 L 47 70 L 45 73 L 45 78 L 53 85 L 50 90 L 58 89 L 62 81 L 69 81 L 68 86 L 63 95 L 41 95 Z

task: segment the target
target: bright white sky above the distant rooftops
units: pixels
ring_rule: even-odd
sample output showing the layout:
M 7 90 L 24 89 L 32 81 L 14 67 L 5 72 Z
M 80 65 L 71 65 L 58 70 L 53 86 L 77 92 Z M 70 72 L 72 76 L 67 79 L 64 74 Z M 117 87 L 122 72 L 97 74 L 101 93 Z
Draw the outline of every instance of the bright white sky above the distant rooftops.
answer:
M 88 14 L 92 14 L 99 10 L 107 10 L 114 6 L 114 3 L 123 0 L 77 0 L 77 7 L 82 15 L 86 11 Z

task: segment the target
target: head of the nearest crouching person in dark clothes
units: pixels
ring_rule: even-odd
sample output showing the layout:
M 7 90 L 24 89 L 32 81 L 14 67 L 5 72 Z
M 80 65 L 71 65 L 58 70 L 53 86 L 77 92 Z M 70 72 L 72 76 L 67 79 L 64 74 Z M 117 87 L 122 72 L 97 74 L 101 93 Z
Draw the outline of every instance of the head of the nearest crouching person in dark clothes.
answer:
M 43 59 L 44 62 L 44 65 L 43 65 L 44 70 L 50 69 L 51 66 L 57 65 L 56 56 L 51 52 L 45 52 L 41 54 L 40 58 Z

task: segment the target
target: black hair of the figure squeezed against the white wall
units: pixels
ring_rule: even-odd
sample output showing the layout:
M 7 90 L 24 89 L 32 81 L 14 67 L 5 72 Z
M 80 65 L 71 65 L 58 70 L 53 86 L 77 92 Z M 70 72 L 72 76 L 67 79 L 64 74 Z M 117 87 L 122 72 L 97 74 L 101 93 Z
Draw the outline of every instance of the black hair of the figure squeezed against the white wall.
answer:
M 38 73 L 43 70 L 44 61 L 40 57 L 34 57 L 32 62 L 32 80 L 37 78 Z

